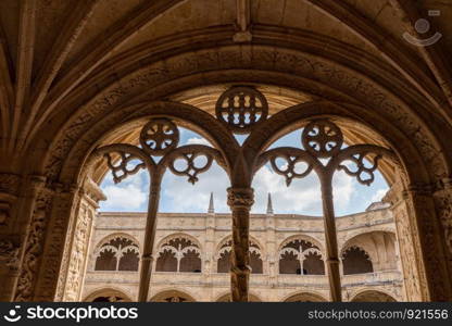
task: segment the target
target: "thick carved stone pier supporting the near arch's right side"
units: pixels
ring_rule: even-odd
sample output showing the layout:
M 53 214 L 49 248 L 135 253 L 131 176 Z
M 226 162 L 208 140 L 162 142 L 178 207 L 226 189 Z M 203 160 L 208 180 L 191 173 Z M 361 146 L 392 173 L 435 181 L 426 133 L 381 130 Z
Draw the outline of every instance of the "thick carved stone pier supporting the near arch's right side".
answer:
M 431 187 L 402 190 L 395 184 L 385 201 L 392 204 L 407 301 L 451 300 L 447 252 Z

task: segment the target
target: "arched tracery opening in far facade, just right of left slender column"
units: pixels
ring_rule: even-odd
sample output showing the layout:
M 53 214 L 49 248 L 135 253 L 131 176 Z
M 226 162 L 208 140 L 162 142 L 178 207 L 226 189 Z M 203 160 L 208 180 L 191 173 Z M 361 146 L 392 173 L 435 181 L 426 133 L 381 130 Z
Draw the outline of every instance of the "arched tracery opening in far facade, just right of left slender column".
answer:
M 166 241 L 159 251 L 156 272 L 201 272 L 201 251 L 198 244 L 186 238 Z

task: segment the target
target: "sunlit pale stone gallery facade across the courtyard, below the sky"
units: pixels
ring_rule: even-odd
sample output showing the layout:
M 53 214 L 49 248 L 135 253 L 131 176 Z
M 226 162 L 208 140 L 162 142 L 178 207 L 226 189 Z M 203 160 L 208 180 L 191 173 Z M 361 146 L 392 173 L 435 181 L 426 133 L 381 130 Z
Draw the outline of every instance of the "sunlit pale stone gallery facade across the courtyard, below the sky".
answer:
M 274 204 L 276 206 L 277 202 L 274 201 Z M 327 301 L 329 289 L 322 218 L 276 214 L 272 206 L 265 214 L 250 215 L 249 300 Z M 146 213 L 99 213 L 92 229 L 80 299 L 136 300 L 139 266 L 135 271 L 100 267 L 105 260 L 101 253 L 112 242 L 130 243 L 128 248 L 133 248 L 134 253 L 135 248 L 142 250 L 146 217 Z M 230 215 L 217 213 L 212 206 L 204 213 L 158 214 L 153 254 L 156 263 L 152 268 L 150 300 L 229 301 L 230 230 Z M 360 294 L 364 300 L 388 297 L 403 301 L 405 293 L 399 253 L 394 248 L 395 224 L 391 210 L 374 204 L 366 212 L 337 217 L 337 230 L 340 266 L 343 266 L 343 300 L 355 301 L 354 298 Z M 365 254 L 349 254 L 355 250 Z M 115 249 L 111 252 L 118 258 L 115 264 L 130 258 Z M 134 258 L 133 262 L 137 255 Z M 115 264 L 112 263 L 112 266 Z M 347 266 L 354 269 L 348 272 Z M 109 294 L 113 289 L 122 296 Z M 170 291 L 178 294 L 166 296 Z

